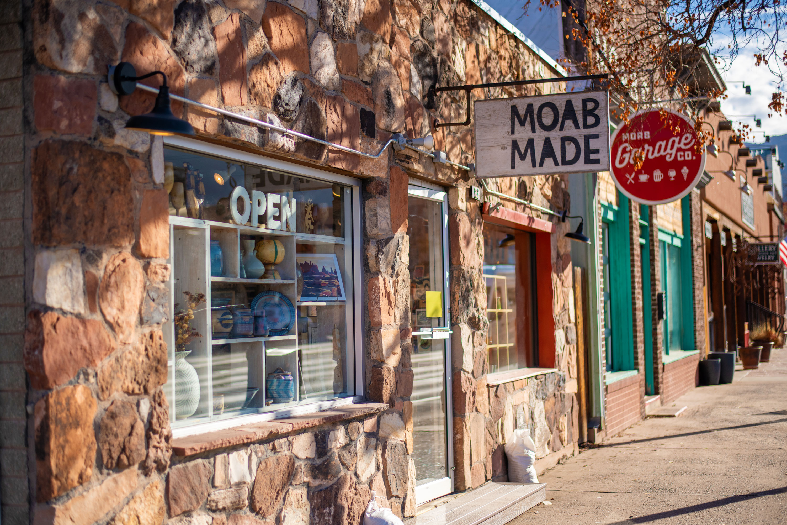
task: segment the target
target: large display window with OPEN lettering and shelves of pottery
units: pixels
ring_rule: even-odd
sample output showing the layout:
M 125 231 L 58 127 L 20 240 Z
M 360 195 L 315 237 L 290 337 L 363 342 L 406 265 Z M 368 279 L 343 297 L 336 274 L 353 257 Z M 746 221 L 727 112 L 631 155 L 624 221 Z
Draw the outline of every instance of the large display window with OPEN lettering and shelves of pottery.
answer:
M 352 188 L 164 150 L 176 426 L 347 397 Z

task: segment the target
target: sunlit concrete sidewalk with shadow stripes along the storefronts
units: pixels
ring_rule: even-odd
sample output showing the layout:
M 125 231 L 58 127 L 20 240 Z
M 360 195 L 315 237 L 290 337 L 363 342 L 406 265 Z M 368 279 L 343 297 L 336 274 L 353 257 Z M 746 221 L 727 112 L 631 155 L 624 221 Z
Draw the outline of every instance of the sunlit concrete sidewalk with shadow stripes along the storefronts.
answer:
M 740 366 L 738 367 L 740 368 Z M 530 523 L 787 523 L 787 349 L 540 476 Z

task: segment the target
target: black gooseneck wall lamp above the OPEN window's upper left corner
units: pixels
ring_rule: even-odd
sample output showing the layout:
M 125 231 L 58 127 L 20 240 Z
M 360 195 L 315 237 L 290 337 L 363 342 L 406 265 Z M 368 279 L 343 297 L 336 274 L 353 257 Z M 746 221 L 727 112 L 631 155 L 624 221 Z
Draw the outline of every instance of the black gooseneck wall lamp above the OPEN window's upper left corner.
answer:
M 109 87 L 115 94 L 132 94 L 137 88 L 137 80 L 161 75 L 163 81 L 153 105 L 153 111 L 145 115 L 135 115 L 128 119 L 127 129 L 148 131 L 151 135 L 194 135 L 194 128 L 186 120 L 179 119 L 172 114 L 169 101 L 169 87 L 167 76 L 164 72 L 153 71 L 146 75 L 137 76 L 136 69 L 128 62 L 120 62 L 109 67 L 107 80 Z

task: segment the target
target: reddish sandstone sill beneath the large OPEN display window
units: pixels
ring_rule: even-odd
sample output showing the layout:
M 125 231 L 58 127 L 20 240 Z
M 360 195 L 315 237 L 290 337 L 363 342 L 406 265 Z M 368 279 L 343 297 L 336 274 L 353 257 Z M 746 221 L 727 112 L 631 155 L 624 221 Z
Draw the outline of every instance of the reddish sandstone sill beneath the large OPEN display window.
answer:
M 384 403 L 364 403 L 334 407 L 322 412 L 312 412 L 311 414 L 287 417 L 280 420 L 246 423 L 220 431 L 174 438 L 172 440 L 172 453 L 181 457 L 194 456 L 194 454 L 223 449 L 228 446 L 247 445 L 253 442 L 279 438 L 285 434 L 306 431 L 309 428 L 320 427 L 320 425 L 374 416 L 387 409 L 388 405 Z

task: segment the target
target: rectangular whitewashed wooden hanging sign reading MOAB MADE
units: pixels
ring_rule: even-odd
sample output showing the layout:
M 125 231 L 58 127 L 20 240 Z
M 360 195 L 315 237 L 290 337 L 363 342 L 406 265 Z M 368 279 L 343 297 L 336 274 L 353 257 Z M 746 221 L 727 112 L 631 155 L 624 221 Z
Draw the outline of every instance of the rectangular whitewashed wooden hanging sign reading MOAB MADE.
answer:
M 609 170 L 606 91 L 475 101 L 479 179 Z

